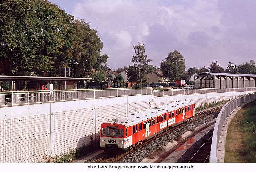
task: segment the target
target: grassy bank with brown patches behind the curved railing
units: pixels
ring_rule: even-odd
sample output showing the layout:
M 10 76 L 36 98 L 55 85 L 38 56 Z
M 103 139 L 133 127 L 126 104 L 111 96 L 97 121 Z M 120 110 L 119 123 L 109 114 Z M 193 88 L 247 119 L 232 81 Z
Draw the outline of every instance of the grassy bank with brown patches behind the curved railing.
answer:
M 241 108 L 228 126 L 225 162 L 256 162 L 256 101 Z

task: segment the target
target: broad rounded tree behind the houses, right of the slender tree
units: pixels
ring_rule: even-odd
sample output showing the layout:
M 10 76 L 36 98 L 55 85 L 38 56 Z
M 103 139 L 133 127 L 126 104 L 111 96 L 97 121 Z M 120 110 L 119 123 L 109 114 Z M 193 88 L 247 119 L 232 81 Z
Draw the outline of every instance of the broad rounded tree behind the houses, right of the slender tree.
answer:
M 185 60 L 180 51 L 170 52 L 168 57 L 161 62 L 160 70 L 162 70 L 163 76 L 171 82 L 180 79 L 185 72 Z

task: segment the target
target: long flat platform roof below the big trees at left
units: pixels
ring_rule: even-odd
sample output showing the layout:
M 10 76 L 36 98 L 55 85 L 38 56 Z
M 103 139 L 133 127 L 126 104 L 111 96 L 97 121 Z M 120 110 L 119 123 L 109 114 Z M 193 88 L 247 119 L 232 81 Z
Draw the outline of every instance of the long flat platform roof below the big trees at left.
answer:
M 92 78 L 0 75 L 0 81 L 88 81 Z

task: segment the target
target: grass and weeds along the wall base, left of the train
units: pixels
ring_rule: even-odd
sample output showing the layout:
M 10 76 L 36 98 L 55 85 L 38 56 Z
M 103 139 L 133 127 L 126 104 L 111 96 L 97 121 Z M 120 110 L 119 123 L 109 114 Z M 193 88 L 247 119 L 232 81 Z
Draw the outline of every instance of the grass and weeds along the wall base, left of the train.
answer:
M 48 156 L 48 157 L 44 155 L 41 161 L 37 158 L 36 162 L 53 163 L 53 162 L 71 162 L 71 161 L 77 160 L 78 158 L 83 157 L 86 154 L 96 150 L 97 146 L 95 145 L 99 145 L 98 143 L 96 143 L 96 142 L 99 142 L 99 138 L 96 139 L 97 141 L 95 141 L 93 137 L 90 137 L 90 139 L 91 139 L 91 142 L 89 145 L 83 144 L 81 147 L 77 149 L 73 148 L 68 153 L 64 152 L 63 154 L 60 154 L 60 155 Z

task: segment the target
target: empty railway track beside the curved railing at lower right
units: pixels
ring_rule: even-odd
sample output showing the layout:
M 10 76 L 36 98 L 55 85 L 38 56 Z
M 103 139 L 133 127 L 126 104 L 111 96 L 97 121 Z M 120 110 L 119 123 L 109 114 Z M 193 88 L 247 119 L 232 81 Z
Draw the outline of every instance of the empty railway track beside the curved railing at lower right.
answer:
M 212 135 L 207 139 L 204 144 L 195 152 L 194 156 L 189 160 L 189 162 L 208 162 L 209 155 L 212 145 Z

